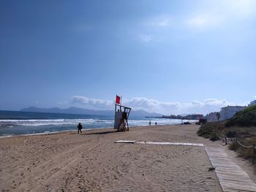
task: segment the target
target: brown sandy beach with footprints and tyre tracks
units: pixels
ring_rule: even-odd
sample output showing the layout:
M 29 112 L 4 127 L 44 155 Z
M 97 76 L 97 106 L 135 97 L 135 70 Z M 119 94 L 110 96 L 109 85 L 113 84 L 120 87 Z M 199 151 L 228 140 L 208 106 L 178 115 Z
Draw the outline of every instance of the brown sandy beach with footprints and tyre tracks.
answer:
M 195 125 L 83 130 L 0 139 L 1 191 L 222 191 Z

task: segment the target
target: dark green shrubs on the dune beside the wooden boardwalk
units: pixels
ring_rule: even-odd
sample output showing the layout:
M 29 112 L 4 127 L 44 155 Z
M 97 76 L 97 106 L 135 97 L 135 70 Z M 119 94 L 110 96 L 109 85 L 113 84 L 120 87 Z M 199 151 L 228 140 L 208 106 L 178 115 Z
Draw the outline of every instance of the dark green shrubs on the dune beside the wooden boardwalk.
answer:
M 219 140 L 218 135 L 236 138 L 242 145 L 256 146 L 256 106 L 247 107 L 246 110 L 237 112 L 233 118 L 227 121 L 209 122 L 201 126 L 197 131 L 201 137 Z M 254 164 L 256 169 L 256 149 L 254 147 L 242 147 L 238 142 L 231 142 L 230 150 L 235 150 L 238 155 Z

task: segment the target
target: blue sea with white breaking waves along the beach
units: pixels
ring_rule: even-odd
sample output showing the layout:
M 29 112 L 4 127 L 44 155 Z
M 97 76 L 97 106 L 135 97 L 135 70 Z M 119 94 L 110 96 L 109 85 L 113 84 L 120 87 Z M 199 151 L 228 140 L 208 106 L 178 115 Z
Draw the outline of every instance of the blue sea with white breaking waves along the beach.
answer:
M 131 117 L 129 126 L 148 126 L 180 124 L 179 119 Z M 13 135 L 50 134 L 61 131 L 77 131 L 78 123 L 82 123 L 83 131 L 92 128 L 113 128 L 113 116 L 74 115 L 46 112 L 19 112 L 0 110 L 0 137 Z

